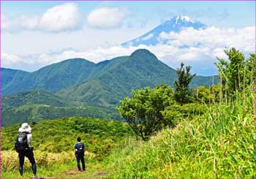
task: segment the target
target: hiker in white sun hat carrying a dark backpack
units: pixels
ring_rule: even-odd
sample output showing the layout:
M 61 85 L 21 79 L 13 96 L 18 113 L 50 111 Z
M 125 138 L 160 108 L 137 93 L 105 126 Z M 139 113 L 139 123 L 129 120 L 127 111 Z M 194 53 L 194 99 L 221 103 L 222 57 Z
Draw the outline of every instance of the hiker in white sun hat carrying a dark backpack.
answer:
M 15 150 L 19 153 L 19 161 L 20 161 L 20 175 L 23 176 L 23 165 L 25 156 L 29 159 L 32 170 L 33 170 L 33 178 L 37 178 L 37 165 L 36 161 L 34 160 L 34 153 L 33 153 L 33 147 L 31 145 L 32 141 L 32 134 L 31 134 L 31 127 L 29 126 L 29 123 L 23 123 L 18 129 L 17 140 L 15 142 Z

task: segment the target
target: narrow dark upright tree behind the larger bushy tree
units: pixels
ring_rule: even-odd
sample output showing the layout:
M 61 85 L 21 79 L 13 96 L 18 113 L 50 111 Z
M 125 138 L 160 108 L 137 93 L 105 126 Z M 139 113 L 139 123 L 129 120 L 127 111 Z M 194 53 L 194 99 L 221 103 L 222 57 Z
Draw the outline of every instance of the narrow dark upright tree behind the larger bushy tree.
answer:
M 189 83 L 196 74 L 191 75 L 191 66 L 186 66 L 184 69 L 184 63 L 181 63 L 181 68 L 177 69 L 178 80 L 174 83 L 174 99 L 179 104 L 186 104 L 192 102 L 192 90 L 189 89 Z

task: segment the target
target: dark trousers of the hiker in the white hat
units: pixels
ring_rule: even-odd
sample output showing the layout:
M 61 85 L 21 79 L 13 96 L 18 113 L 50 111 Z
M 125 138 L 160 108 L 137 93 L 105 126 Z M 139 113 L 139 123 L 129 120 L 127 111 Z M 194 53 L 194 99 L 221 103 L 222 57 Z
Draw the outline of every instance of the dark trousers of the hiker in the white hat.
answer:
M 19 159 L 20 159 L 19 171 L 20 171 L 20 175 L 23 175 L 23 165 L 24 165 L 25 156 L 29 159 L 29 161 L 31 163 L 33 174 L 37 175 L 37 165 L 36 165 L 36 161 L 34 160 L 34 153 L 33 153 L 33 151 L 29 151 L 29 150 L 28 151 L 23 151 L 22 153 L 19 153 Z

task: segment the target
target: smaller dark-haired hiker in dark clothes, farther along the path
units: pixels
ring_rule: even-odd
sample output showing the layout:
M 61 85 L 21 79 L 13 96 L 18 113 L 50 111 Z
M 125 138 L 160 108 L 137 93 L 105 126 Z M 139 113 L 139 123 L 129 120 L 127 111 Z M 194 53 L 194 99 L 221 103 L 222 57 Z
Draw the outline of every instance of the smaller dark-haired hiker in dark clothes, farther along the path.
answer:
M 82 167 L 83 170 L 86 170 L 86 164 L 84 162 L 84 147 L 85 145 L 80 142 L 81 138 L 78 137 L 78 143 L 75 144 L 75 158 L 77 159 L 77 163 L 78 163 L 78 170 L 81 171 L 81 167 L 80 167 L 80 161 L 82 162 Z

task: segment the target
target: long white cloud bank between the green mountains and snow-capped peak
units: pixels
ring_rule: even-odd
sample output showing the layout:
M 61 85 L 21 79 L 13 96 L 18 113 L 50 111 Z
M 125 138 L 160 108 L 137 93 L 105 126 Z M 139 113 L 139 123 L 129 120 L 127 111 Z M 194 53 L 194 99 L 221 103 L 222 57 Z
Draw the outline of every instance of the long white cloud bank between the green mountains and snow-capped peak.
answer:
M 186 65 L 192 66 L 192 71 L 198 75 L 217 74 L 217 68 L 214 61 L 219 58 L 227 58 L 223 50 L 225 47 L 236 47 L 245 54 L 255 51 L 255 27 L 242 29 L 234 28 L 206 28 L 205 30 L 184 29 L 179 34 L 162 34 L 162 40 L 167 39 L 168 44 L 159 44 L 156 46 L 140 45 L 138 47 L 97 47 L 86 50 L 61 50 L 55 53 L 42 53 L 32 57 L 23 57 L 28 59 L 28 63 L 33 61 L 38 66 L 45 66 L 68 58 L 86 58 L 95 63 L 117 56 L 129 56 L 133 51 L 146 48 L 154 53 L 159 60 L 176 69 L 181 61 Z M 185 46 L 189 47 L 185 47 Z M 3 58 L 4 65 L 15 64 L 21 57 Z M 25 66 L 26 67 L 26 66 Z M 24 69 L 24 66 L 20 66 Z

